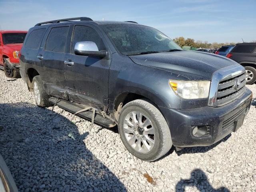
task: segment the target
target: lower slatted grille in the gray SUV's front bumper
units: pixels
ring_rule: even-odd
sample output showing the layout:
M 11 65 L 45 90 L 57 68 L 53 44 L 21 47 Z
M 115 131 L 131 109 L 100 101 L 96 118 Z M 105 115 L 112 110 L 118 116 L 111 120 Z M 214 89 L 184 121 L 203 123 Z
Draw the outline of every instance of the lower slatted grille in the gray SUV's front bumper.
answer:
M 247 106 L 244 106 L 241 110 L 239 110 L 235 114 L 232 114 L 232 116 L 229 116 L 224 119 L 222 123 L 222 134 L 234 129 L 236 118 L 238 118 L 242 114 L 245 114 L 246 108 Z

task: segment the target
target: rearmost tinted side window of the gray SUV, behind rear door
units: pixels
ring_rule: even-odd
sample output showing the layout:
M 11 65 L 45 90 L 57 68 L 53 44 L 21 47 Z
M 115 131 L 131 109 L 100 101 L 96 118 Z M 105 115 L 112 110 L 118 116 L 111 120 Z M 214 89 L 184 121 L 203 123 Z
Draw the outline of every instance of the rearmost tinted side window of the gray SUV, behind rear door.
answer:
M 46 30 L 46 28 L 36 29 L 36 30 L 32 31 L 28 35 L 28 39 L 26 40 L 26 44 L 24 47 L 38 49 L 45 30 Z

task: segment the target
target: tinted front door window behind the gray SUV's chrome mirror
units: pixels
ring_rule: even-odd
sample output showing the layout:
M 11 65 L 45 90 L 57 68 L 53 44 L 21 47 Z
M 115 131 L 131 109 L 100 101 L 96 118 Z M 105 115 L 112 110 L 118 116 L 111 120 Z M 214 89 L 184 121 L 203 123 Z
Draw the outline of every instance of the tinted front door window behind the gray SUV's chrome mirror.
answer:
M 99 51 L 106 49 L 102 39 L 94 29 L 86 26 L 75 26 L 70 52 L 74 53 L 75 44 L 83 41 L 92 41 L 96 43 Z

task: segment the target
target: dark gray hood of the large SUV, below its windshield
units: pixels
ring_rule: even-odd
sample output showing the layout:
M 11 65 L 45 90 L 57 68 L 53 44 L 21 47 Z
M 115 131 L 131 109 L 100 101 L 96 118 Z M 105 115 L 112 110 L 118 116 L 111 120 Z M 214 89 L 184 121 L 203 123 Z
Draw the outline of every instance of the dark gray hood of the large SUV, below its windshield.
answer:
M 229 58 L 198 51 L 160 52 L 129 57 L 136 64 L 176 73 L 190 80 L 211 80 L 215 71 L 238 65 Z

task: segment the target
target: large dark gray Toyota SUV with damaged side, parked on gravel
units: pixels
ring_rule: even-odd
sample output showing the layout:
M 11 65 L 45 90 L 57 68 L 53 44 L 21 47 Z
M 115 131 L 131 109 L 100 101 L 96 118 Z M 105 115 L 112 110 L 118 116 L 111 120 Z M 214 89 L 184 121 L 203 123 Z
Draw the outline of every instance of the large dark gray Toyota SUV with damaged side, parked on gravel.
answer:
M 242 126 L 252 100 L 244 67 L 183 51 L 136 22 L 83 17 L 36 24 L 20 65 L 38 106 L 57 105 L 92 125 L 117 125 L 124 146 L 145 161 L 172 145 L 180 150 L 221 140 Z

